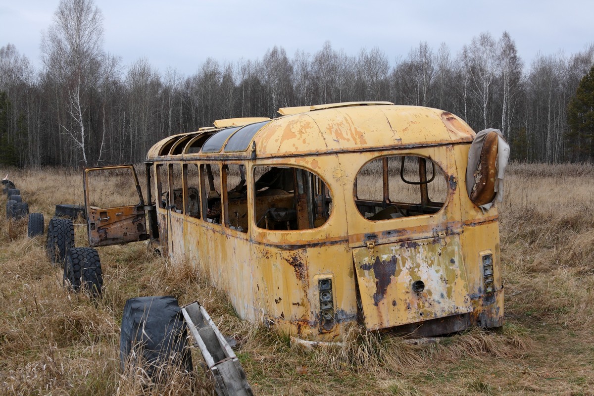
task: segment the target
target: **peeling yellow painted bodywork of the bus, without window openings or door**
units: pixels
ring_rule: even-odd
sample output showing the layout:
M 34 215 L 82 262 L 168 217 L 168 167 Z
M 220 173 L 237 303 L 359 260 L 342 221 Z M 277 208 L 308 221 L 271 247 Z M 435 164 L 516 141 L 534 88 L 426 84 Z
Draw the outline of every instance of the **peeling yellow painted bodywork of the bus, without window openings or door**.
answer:
M 419 334 L 503 325 L 497 208 L 483 213 L 466 195 L 467 153 L 475 134 L 464 121 L 442 110 L 386 103 L 282 112 L 286 116 L 254 134 L 245 153 L 184 153 L 176 159 L 245 166 L 247 232 L 157 207 L 163 251 L 191 252 L 242 318 L 299 337 L 335 340 L 359 318 L 369 330 Z M 150 166 L 171 163 L 164 154 L 171 139 L 151 148 Z M 443 208 L 386 221 L 365 218 L 353 198 L 359 170 L 373 159 L 403 155 L 429 158 L 443 170 Z M 257 166 L 292 166 L 318 175 L 331 196 L 327 221 L 300 230 L 258 227 Z M 223 205 L 222 218 L 227 210 Z M 484 290 L 485 254 L 493 261 L 491 293 Z M 331 284 L 330 297 L 322 284 Z M 331 320 L 323 318 L 327 303 Z

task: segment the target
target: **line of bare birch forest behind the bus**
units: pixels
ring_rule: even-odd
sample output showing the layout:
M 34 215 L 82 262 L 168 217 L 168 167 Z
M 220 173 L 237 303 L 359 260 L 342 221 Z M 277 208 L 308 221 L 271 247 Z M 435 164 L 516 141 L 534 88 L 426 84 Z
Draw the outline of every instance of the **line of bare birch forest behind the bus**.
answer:
M 594 44 L 529 63 L 507 32 L 482 32 L 457 53 L 421 42 L 394 61 L 377 47 L 353 55 L 326 42 L 290 56 L 274 46 L 261 59 L 209 58 L 186 76 L 146 58 L 122 65 L 103 47 L 93 1 L 62 0 L 41 49 L 43 66 L 34 69 L 14 45 L 0 48 L 0 164 L 138 163 L 158 140 L 216 119 L 367 100 L 436 107 L 475 131 L 501 129 L 515 160 L 594 160 L 592 133 L 571 132 L 567 122 Z

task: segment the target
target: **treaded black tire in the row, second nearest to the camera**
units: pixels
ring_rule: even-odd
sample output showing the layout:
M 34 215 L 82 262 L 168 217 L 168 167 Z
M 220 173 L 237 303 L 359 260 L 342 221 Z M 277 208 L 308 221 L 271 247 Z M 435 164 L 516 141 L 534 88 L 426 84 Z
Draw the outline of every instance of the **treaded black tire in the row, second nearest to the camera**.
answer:
M 99 296 L 103 287 L 99 253 L 93 248 L 72 248 L 64 265 L 64 286 L 72 290 L 88 290 Z

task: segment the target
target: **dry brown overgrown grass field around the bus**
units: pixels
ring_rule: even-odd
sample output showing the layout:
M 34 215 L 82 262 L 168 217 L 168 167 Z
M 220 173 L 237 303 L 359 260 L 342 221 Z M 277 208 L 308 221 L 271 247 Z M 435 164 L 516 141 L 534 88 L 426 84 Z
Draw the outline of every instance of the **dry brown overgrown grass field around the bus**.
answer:
M 8 173 L 46 224 L 55 204 L 83 201 L 81 172 Z M 2 209 L 0 394 L 211 394 L 197 350 L 194 376 L 174 372 L 149 386 L 141 372 L 119 373 L 125 301 L 173 295 L 181 304 L 202 302 L 238 340 L 258 395 L 594 395 L 594 167 L 511 164 L 499 207 L 503 331 L 412 345 L 352 328 L 343 347 L 315 350 L 239 320 L 189 264 L 156 257 L 143 243 L 99 249 L 100 300 L 68 293 L 62 269 L 45 256 L 45 237 L 28 239 L 26 222 L 9 223 Z M 85 246 L 83 225 L 75 235 Z

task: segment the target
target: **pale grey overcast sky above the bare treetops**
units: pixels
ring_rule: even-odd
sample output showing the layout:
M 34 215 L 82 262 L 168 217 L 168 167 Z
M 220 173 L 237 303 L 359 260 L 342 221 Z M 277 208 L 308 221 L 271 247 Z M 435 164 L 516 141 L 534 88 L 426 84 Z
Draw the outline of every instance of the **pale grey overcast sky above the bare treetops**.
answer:
M 12 43 L 40 66 L 39 43 L 59 0 L 0 0 L 0 46 Z M 329 40 L 356 55 L 379 47 L 392 63 L 419 42 L 453 55 L 473 36 L 507 30 L 525 64 L 545 55 L 579 52 L 594 43 L 594 1 L 362 0 L 96 0 L 105 50 L 127 66 L 146 57 L 165 71 L 194 74 L 208 57 L 219 62 L 263 58 L 282 46 L 315 53 Z

